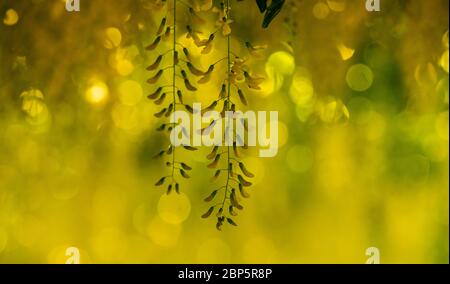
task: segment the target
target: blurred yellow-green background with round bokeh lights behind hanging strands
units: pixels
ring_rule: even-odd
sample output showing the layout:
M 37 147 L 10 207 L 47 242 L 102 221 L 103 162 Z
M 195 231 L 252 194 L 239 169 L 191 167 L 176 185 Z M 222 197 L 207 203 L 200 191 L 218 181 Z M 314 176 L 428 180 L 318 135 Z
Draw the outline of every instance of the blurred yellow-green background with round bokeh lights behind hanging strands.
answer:
M 65 1 L 1 0 L 0 263 L 64 263 L 71 246 L 82 263 L 364 263 L 368 247 L 382 263 L 448 263 L 449 2 L 381 1 L 378 13 L 287 1 L 267 30 L 254 1 L 232 1 L 235 52 L 268 45 L 248 100 L 280 112 L 280 150 L 249 151 L 252 197 L 239 227 L 218 232 L 200 219 L 208 149 L 186 154 L 181 195 L 154 187 L 167 143 L 145 98 L 157 1 L 68 13 Z M 202 67 L 223 57 L 219 43 L 194 52 Z

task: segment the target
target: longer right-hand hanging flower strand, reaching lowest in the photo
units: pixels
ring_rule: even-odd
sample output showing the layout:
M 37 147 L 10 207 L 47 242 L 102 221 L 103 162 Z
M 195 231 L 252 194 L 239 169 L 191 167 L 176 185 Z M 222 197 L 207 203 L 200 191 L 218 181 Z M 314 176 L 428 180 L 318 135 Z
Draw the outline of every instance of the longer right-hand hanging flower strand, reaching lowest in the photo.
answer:
M 215 169 L 213 179 L 218 179 L 222 173 L 225 173 L 226 181 L 224 186 L 212 191 L 205 199 L 205 202 L 212 202 L 217 196 L 222 195 L 219 203 L 211 206 L 202 215 L 202 218 L 209 218 L 213 213 L 216 213 L 216 228 L 221 230 L 224 223 L 237 226 L 233 217 L 237 216 L 236 210 L 244 209 L 241 205 L 241 198 L 249 197 L 246 188 L 251 186 L 252 183 L 248 179 L 254 177 L 240 160 L 239 149 L 247 149 L 247 145 L 242 140 L 244 137 L 239 137 L 234 131 L 233 133 L 229 133 L 233 129 L 232 124 L 235 122 L 243 123 L 244 128 L 247 130 L 246 122 L 236 121 L 236 117 L 230 116 L 229 113 L 236 112 L 235 98 L 238 98 L 242 105 L 247 105 L 247 99 L 245 98 L 242 86 L 245 85 L 248 89 L 260 90 L 259 85 L 262 83 L 263 78 L 251 75 L 250 71 L 248 71 L 249 66 L 246 65 L 247 60 L 238 57 L 231 50 L 230 24 L 233 21 L 230 17 L 230 0 L 226 0 L 226 2 L 222 1 L 220 8 L 215 8 L 215 11 L 219 13 L 218 25 L 222 30 L 222 34 L 226 37 L 227 54 L 225 60 L 227 62 L 227 71 L 218 99 L 202 111 L 211 111 L 223 102 L 220 121 L 213 121 L 207 128 L 202 130 L 202 134 L 208 135 L 211 128 L 218 122 L 220 123 L 222 120 L 225 120 L 226 127 L 222 136 L 222 145 L 225 146 L 215 146 L 207 156 L 207 159 L 211 161 L 208 168 Z M 249 42 L 246 43 L 246 47 L 250 55 L 257 55 L 263 49 L 263 47 L 253 46 Z M 232 143 L 228 143 L 231 141 Z M 223 165 L 223 167 L 220 168 L 220 165 Z

